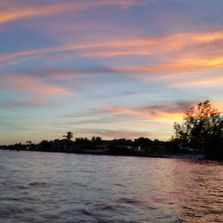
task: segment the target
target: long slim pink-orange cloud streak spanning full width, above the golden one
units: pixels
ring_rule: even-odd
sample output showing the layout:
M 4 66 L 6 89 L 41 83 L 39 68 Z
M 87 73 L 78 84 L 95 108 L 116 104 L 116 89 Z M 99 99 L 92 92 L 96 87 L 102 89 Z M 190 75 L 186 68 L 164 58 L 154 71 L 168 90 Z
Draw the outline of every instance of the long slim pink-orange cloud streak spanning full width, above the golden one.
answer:
M 74 44 L 17 51 L 0 55 L 0 61 L 16 59 L 26 56 L 42 56 L 49 53 L 78 52 L 89 57 L 120 57 L 140 55 L 162 55 L 174 53 L 190 46 L 211 44 L 223 41 L 223 31 L 203 33 L 179 33 L 154 38 L 124 38 L 113 40 L 101 40 L 99 42 L 78 42 Z M 216 44 L 218 47 L 219 44 Z M 193 51 L 192 51 L 193 52 Z

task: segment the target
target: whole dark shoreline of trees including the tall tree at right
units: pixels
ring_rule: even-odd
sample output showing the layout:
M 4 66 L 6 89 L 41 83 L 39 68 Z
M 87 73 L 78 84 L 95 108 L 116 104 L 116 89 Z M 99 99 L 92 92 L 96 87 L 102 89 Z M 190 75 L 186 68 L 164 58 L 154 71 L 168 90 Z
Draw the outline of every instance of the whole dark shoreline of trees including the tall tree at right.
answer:
M 190 107 L 182 123 L 174 123 L 175 135 L 169 141 L 139 137 L 103 140 L 100 137 L 75 138 L 68 131 L 63 139 L 42 140 L 38 144 L 1 146 L 1 149 L 44 152 L 88 153 L 108 155 L 164 156 L 201 154 L 208 159 L 223 160 L 223 117 L 209 101 Z

